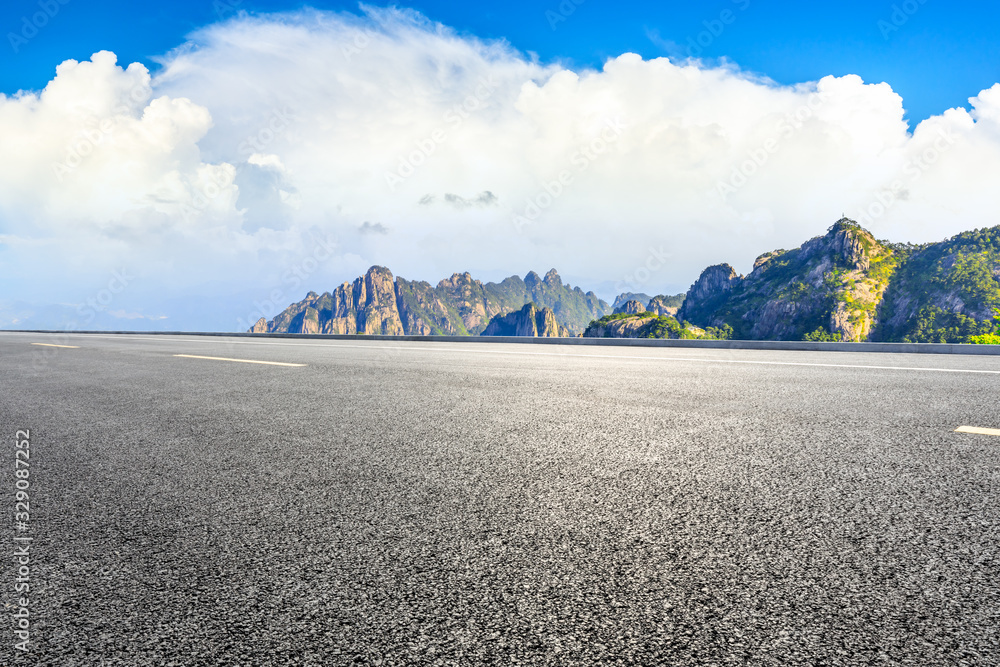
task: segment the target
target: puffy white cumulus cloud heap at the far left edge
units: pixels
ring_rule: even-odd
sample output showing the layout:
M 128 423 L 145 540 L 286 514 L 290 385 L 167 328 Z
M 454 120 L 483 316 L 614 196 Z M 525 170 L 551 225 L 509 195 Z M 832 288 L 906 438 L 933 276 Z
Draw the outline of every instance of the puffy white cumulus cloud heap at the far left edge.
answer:
M 205 211 L 224 210 L 232 168 L 202 162 L 198 147 L 211 124 L 189 99 L 154 96 L 142 65 L 122 69 L 107 51 L 68 60 L 40 93 L 0 95 L 5 227 L 107 229 L 143 224 L 130 215 L 143 211 L 183 226 L 204 181 L 220 190 Z

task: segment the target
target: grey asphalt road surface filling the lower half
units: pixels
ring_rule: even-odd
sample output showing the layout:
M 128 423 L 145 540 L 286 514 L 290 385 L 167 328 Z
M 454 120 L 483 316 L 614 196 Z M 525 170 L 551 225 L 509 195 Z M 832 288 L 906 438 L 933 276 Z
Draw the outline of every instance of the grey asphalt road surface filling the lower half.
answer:
M 1000 357 L 0 334 L 8 611 L 33 537 L 0 660 L 997 665 L 1000 437 L 954 431 L 998 388 Z

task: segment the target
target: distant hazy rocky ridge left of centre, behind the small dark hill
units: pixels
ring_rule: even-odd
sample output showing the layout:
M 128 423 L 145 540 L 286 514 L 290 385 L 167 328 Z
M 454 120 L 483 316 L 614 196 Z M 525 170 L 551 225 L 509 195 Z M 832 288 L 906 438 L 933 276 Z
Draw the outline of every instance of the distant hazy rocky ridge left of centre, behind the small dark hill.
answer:
M 310 292 L 255 333 L 334 333 L 387 335 L 476 335 L 497 315 L 520 311 L 534 303 L 551 311 L 572 335 L 611 312 L 593 292 L 564 285 L 555 269 L 540 277 L 534 271 L 485 283 L 456 273 L 436 287 L 427 282 L 394 278 L 389 269 L 373 266 L 353 283 L 332 292 Z

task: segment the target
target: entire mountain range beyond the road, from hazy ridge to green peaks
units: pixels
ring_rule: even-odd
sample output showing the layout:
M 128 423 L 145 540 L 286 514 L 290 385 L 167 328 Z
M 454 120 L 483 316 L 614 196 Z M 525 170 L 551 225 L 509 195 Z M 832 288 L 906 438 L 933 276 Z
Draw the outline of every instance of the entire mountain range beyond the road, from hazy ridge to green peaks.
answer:
M 555 269 L 485 284 L 456 273 L 432 287 L 374 266 L 251 332 L 963 343 L 993 334 L 998 308 L 1000 227 L 914 245 L 842 218 L 760 255 L 746 276 L 710 266 L 686 294 L 625 293 L 609 306 Z

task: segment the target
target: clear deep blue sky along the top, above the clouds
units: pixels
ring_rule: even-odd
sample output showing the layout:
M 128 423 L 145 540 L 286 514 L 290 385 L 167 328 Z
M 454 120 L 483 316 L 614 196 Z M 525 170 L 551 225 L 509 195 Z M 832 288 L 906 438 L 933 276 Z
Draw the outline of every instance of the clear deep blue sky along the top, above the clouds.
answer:
M 10 35 L 32 34 L 31 28 L 24 32 L 24 21 L 31 21 L 46 5 L 54 15 L 37 35 L 17 43 L 15 53 Z M 58 63 L 85 60 L 102 49 L 118 54 L 119 62 L 138 61 L 155 71 L 154 59 L 182 44 L 197 28 L 239 11 L 264 13 L 302 6 L 260 0 L 67 0 L 66 4 L 9 0 L 0 9 L 5 36 L 0 91 L 10 94 L 43 87 Z M 358 10 L 353 2 L 308 6 Z M 727 58 L 778 83 L 858 74 L 869 83 L 888 82 L 902 95 L 911 125 L 944 109 L 967 106 L 970 96 L 1000 81 L 996 3 L 584 0 L 577 5 L 567 0 L 560 5 L 555 0 L 421 0 L 400 6 L 467 34 L 506 39 L 522 52 L 537 53 L 543 62 L 559 61 L 574 68 L 599 67 L 624 52 L 644 58 L 683 56 L 700 39 L 705 45 L 698 46 L 702 57 Z M 53 11 L 56 7 L 58 11 Z M 724 16 L 726 11 L 732 14 Z M 722 18 L 730 19 L 728 25 Z

